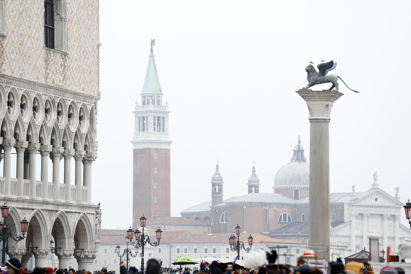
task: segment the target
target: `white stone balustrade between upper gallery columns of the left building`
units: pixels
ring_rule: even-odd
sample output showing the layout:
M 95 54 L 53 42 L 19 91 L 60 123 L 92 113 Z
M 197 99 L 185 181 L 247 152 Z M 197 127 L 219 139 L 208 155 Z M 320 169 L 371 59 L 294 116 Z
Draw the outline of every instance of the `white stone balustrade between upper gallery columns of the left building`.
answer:
M 42 186 L 43 182 L 42 181 L 36 181 L 36 197 L 42 197 Z M 15 178 L 10 179 L 10 194 L 11 195 L 18 195 L 18 180 Z M 48 182 L 48 187 L 47 187 L 47 197 L 50 199 L 54 199 L 54 183 L 53 182 Z M 59 200 L 65 200 L 66 199 L 66 184 L 65 183 L 60 183 L 60 188 L 59 188 Z M 70 185 L 69 188 L 70 191 L 70 200 L 76 201 L 77 199 L 77 186 L 76 185 Z M 81 202 L 88 202 L 88 187 L 87 186 L 82 186 L 81 187 Z M 0 194 L 5 194 L 5 178 L 0 177 Z M 29 196 L 30 194 L 30 180 L 25 179 L 23 181 L 23 196 Z

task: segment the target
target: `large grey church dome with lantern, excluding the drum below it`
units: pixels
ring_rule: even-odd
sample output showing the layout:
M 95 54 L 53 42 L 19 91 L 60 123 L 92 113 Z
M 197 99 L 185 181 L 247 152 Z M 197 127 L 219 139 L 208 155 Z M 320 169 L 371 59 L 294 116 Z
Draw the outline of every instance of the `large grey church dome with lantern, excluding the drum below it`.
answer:
M 298 144 L 294 146 L 290 163 L 277 171 L 272 188 L 308 188 L 308 186 L 309 163 L 307 163 L 304 148 L 300 144 L 300 138 L 298 138 Z

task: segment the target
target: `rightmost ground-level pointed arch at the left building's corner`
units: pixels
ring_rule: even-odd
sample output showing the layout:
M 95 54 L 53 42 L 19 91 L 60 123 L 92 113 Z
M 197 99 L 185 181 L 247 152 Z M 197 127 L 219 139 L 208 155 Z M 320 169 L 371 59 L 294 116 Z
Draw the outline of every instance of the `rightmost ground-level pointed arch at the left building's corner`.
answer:
M 82 213 L 79 215 L 72 230 L 72 235 L 74 235 L 73 240 L 76 248 L 84 248 L 85 250 L 94 248 L 93 226 L 87 214 Z

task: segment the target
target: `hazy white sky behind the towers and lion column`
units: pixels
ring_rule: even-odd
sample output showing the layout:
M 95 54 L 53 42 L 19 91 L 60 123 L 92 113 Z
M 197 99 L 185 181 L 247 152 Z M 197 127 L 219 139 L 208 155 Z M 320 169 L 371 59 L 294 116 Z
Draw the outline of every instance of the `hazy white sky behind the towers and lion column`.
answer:
M 410 192 L 409 1 L 100 0 L 99 156 L 93 202 L 102 228 L 132 223 L 135 101 L 150 39 L 164 101 L 169 101 L 171 214 L 210 200 L 220 160 L 225 198 L 247 194 L 252 160 L 260 192 L 300 135 L 309 161 L 305 101 L 308 60 L 338 63 L 344 96 L 330 123 L 332 192 L 380 187 L 401 201 Z M 329 88 L 330 84 L 317 89 Z M 137 216 L 139 217 L 139 216 Z M 405 223 L 404 214 L 402 221 Z M 128 228 L 128 227 L 127 227 Z M 135 229 L 135 228 L 134 228 Z

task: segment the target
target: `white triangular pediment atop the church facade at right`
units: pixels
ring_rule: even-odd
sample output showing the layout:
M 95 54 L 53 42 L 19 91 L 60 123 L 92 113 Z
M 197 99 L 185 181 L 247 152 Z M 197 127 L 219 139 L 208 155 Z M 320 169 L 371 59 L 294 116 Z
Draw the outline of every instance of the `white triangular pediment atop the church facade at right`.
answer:
M 403 206 L 404 204 L 399 200 L 395 199 L 393 196 L 386 193 L 381 188 L 370 188 L 358 195 L 358 197 L 350 201 L 349 204 L 358 205 L 392 205 L 392 206 Z

